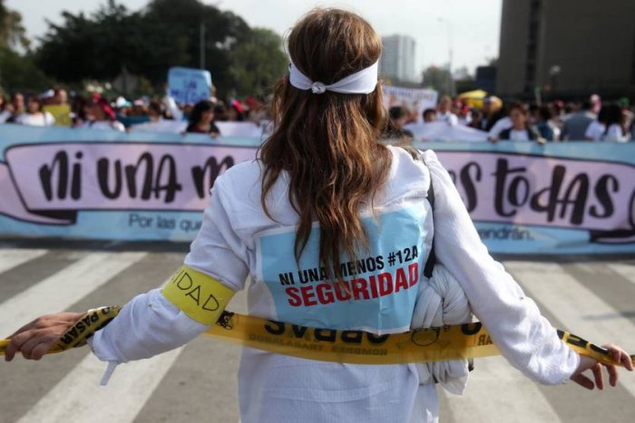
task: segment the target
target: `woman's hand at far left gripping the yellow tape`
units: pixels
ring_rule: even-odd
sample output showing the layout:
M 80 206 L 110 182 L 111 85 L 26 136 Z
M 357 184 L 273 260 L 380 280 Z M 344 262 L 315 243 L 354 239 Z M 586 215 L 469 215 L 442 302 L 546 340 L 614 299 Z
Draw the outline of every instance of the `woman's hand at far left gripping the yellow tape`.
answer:
M 57 312 L 25 324 L 9 337 L 11 342 L 5 350 L 5 361 L 12 361 L 18 351 L 27 360 L 40 360 L 83 314 Z

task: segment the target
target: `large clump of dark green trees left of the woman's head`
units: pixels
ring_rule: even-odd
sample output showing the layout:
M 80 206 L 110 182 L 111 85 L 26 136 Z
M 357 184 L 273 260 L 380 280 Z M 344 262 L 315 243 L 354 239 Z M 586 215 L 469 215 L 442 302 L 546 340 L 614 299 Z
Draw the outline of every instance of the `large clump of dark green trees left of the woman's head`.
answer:
M 68 84 L 110 82 L 125 70 L 159 91 L 171 66 L 200 67 L 202 47 L 203 67 L 220 96 L 232 89 L 255 93 L 287 63 L 278 34 L 252 30 L 238 15 L 200 0 L 151 0 L 138 12 L 108 0 L 94 14 L 62 17 L 62 24 L 48 22 L 35 58 L 46 74 Z

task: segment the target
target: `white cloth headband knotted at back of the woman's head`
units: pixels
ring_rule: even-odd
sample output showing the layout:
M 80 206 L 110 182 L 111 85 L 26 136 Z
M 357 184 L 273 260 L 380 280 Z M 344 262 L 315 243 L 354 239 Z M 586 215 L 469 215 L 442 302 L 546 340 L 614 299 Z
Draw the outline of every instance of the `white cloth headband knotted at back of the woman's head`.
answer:
M 370 94 L 375 91 L 377 85 L 378 69 L 379 62 L 375 62 L 366 69 L 326 85 L 324 82 L 312 82 L 291 62 L 288 65 L 288 81 L 298 90 L 311 90 L 314 94 L 321 94 L 324 91 L 334 91 L 342 94 Z

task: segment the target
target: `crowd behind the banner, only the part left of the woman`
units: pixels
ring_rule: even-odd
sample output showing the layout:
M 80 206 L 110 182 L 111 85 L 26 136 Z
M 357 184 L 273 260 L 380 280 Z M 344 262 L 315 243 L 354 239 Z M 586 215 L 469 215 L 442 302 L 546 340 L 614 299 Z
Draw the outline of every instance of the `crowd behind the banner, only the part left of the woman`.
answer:
M 133 125 L 161 120 L 187 120 L 186 132 L 220 135 L 217 121 L 251 121 L 268 119 L 262 99 L 220 101 L 215 97 L 195 104 L 177 104 L 170 96 L 141 97 L 127 101 L 122 96 L 107 99 L 102 94 L 69 95 L 64 88 L 44 94 L 15 92 L 0 95 L 0 124 L 29 126 L 65 126 L 93 130 L 125 131 Z

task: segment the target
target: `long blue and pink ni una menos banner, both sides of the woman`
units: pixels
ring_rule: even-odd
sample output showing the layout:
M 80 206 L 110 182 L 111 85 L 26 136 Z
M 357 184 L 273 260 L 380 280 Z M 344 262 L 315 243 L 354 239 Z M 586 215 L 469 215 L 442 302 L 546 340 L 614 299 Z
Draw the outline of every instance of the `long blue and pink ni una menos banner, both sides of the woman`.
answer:
M 0 126 L 0 236 L 190 241 L 259 139 Z M 635 252 L 635 143 L 435 149 L 494 253 Z

